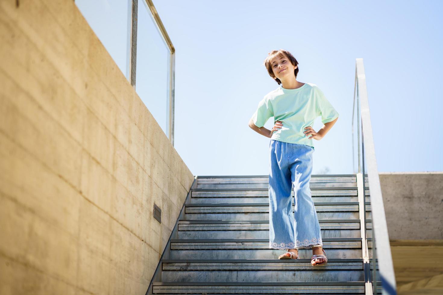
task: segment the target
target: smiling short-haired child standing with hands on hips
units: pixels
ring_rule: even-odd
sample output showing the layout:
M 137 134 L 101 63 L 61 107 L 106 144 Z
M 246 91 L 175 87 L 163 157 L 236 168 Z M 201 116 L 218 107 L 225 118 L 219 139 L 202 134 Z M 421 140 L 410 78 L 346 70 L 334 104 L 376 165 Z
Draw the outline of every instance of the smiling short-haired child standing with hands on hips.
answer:
M 312 83 L 297 81 L 298 62 L 286 50 L 273 50 L 264 60 L 269 75 L 281 84 L 258 104 L 249 126 L 269 142 L 269 249 L 288 249 L 279 259 L 297 259 L 298 249 L 311 249 L 313 266 L 327 262 L 319 220 L 311 198 L 313 140 L 322 139 L 337 122 L 338 112 Z M 312 128 L 322 116 L 323 128 Z M 264 128 L 270 117 L 275 125 Z M 292 195 L 295 210 L 292 214 Z M 324 255 L 323 255 L 324 253 Z

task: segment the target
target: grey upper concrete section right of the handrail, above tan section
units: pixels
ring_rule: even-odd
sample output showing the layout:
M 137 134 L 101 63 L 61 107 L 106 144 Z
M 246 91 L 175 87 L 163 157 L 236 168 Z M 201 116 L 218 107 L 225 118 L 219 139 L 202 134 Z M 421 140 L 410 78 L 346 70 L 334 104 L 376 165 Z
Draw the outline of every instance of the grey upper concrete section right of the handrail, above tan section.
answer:
M 443 172 L 379 173 L 390 240 L 443 239 Z

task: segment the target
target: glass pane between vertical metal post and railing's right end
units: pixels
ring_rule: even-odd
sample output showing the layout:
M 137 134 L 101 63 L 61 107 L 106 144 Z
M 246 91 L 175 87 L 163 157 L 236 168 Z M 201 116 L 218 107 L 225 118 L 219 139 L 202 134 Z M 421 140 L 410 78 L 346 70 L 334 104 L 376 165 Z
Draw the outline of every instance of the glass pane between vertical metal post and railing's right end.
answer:
M 169 138 L 171 51 L 145 0 L 138 1 L 136 92 Z

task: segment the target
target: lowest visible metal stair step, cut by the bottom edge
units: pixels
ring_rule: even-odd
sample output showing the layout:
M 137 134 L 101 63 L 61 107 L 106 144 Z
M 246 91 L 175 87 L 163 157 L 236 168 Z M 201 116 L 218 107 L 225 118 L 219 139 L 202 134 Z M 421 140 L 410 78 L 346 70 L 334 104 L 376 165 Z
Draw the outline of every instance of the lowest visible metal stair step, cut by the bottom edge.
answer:
M 365 282 L 153 282 L 153 294 L 365 294 Z

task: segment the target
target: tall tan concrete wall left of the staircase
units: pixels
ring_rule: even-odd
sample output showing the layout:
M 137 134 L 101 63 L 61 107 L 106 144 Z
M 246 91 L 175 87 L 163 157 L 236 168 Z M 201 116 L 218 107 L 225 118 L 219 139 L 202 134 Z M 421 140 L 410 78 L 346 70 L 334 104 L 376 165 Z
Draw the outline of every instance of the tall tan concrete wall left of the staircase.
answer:
M 144 294 L 193 174 L 73 0 L 1 0 L 0 57 L 0 294 Z

